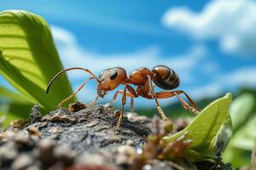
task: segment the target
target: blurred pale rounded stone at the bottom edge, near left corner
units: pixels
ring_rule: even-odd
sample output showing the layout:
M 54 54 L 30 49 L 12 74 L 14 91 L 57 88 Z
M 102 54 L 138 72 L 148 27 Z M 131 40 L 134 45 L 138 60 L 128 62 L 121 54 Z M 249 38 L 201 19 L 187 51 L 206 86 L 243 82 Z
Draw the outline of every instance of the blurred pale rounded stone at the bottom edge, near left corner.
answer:
M 25 169 L 26 167 L 29 167 L 30 165 L 32 165 L 32 157 L 22 154 L 20 156 L 18 156 L 15 161 L 13 162 L 11 169 L 13 170 L 22 170 Z

